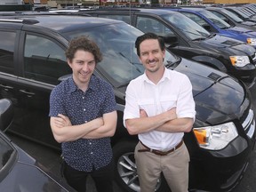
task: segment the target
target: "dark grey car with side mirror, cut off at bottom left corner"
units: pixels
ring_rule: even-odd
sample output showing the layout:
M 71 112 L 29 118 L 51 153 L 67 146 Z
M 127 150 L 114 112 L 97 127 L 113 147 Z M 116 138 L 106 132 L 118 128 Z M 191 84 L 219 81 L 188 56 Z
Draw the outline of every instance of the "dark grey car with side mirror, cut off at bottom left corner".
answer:
M 11 100 L 0 100 L 0 191 L 75 192 L 4 134 L 12 123 L 13 111 Z

